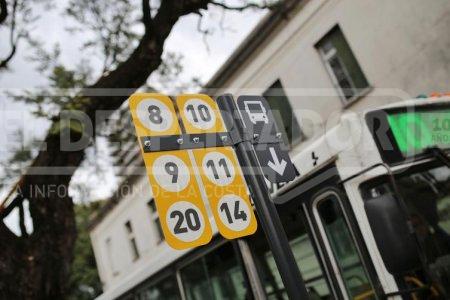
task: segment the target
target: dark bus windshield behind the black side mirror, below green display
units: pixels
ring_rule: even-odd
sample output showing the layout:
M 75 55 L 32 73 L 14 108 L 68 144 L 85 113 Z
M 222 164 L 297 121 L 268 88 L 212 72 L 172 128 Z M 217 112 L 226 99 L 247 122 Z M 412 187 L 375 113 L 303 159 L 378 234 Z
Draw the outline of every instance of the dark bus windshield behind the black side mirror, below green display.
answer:
M 403 279 L 410 288 L 429 286 L 417 296 L 450 297 L 450 169 L 446 166 L 412 171 L 396 178 L 399 192 L 421 244 L 428 272 Z M 392 193 L 387 181 L 363 190 L 365 200 Z M 426 274 L 429 273 L 429 274 Z M 421 298 L 422 299 L 422 298 Z

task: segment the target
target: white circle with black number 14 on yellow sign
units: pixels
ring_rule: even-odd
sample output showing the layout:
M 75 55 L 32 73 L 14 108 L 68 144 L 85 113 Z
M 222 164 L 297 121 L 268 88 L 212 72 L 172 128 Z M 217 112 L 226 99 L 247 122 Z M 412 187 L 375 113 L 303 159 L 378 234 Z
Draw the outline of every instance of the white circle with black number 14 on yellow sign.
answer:
M 250 225 L 250 207 L 237 195 L 223 196 L 217 209 L 222 223 L 233 231 L 242 231 Z

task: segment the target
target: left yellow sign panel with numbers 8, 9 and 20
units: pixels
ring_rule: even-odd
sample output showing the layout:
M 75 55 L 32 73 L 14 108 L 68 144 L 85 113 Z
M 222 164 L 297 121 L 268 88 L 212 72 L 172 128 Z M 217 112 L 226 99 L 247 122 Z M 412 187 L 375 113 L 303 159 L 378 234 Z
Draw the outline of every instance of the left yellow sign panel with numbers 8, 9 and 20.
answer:
M 182 132 L 169 97 L 135 94 L 129 101 L 140 141 L 166 136 L 179 139 Z M 145 150 L 152 146 L 147 139 L 141 150 L 167 243 L 175 249 L 207 244 L 212 238 L 211 225 L 188 150 Z

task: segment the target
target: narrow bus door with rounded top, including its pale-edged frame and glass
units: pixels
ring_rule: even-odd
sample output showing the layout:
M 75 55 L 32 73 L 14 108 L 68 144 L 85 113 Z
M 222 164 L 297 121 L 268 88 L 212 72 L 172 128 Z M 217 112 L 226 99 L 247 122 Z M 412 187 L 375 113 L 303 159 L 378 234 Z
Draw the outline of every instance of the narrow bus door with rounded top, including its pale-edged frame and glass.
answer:
M 307 204 L 318 243 L 345 299 L 377 299 L 382 291 L 362 242 L 347 197 L 328 187 Z

